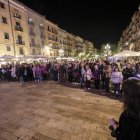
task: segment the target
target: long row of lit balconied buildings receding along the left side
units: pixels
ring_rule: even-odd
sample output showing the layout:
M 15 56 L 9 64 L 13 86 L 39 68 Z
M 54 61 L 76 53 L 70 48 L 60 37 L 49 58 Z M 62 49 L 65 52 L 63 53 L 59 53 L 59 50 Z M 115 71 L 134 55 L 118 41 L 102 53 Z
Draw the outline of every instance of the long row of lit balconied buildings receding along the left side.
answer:
M 58 27 L 16 0 L 0 0 L 0 56 L 78 56 L 93 51 L 93 43 Z

